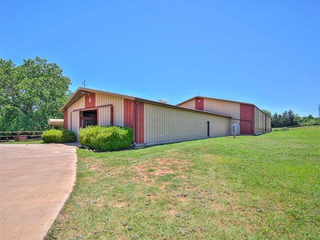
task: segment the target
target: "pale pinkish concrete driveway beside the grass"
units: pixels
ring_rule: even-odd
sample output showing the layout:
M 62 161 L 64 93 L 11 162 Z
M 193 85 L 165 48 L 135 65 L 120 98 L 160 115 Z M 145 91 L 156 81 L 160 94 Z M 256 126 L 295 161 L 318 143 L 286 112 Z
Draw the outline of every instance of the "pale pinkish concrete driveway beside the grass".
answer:
M 76 146 L 0 144 L 0 239 L 42 239 L 75 181 Z

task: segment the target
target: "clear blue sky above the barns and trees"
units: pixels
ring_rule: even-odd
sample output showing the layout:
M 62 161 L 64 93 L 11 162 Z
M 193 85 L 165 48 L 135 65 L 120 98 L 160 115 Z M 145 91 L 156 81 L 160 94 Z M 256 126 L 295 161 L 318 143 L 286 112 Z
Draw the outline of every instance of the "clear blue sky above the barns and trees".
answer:
M 88 88 L 197 95 L 318 116 L 319 0 L 1 0 L 0 57 L 56 62 Z

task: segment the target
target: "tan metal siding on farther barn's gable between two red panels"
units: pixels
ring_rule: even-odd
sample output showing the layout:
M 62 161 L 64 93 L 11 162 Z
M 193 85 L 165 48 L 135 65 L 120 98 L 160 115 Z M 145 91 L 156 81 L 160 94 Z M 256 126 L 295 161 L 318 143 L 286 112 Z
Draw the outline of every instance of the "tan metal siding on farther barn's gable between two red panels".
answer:
M 240 103 L 204 98 L 204 111 L 240 118 Z

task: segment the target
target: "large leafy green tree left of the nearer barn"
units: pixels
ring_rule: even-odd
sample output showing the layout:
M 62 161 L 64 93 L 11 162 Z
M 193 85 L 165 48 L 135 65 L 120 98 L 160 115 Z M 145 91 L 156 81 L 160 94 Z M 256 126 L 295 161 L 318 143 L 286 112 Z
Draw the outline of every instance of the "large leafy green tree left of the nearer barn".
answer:
M 0 131 L 43 130 L 70 95 L 71 81 L 56 63 L 35 57 L 15 66 L 0 58 Z

